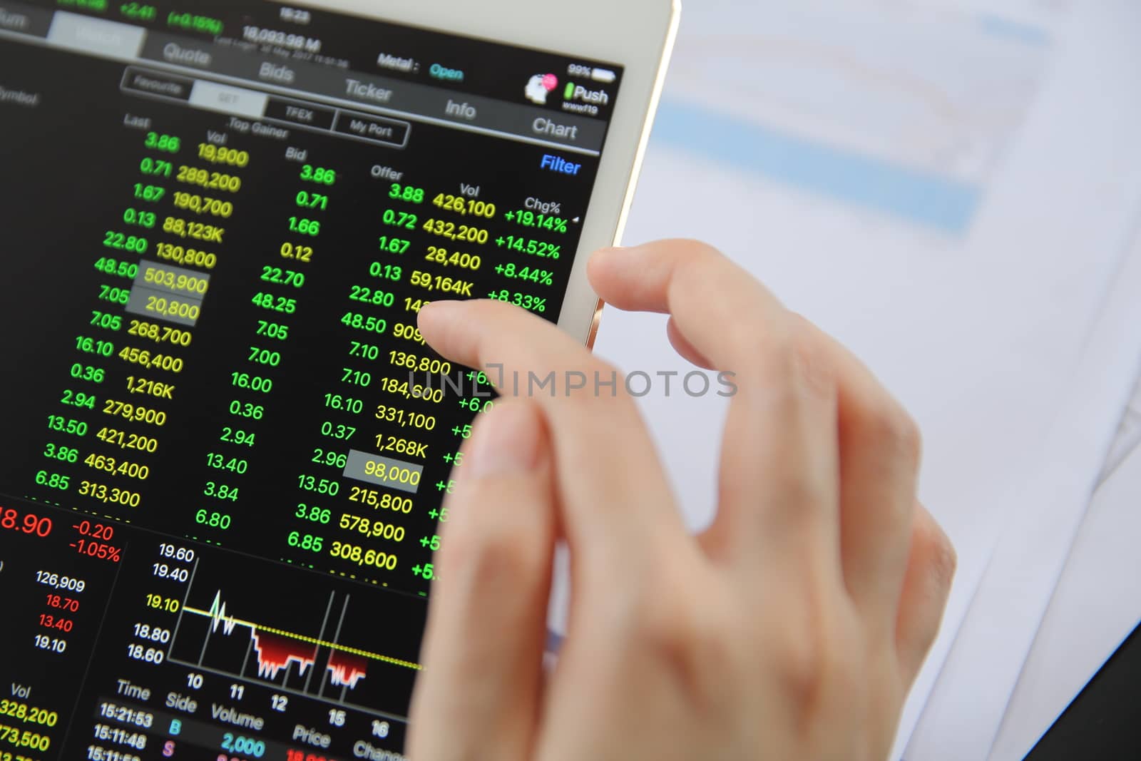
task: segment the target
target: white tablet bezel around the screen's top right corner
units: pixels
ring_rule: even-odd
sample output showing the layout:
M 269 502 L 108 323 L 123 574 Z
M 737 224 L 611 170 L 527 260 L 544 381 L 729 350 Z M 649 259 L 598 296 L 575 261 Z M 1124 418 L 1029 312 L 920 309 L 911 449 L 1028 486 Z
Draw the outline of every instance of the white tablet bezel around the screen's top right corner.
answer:
M 681 10 L 680 0 L 298 0 L 291 5 L 621 64 L 618 98 L 584 218 L 559 327 L 593 345 L 601 302 L 590 252 L 615 245 L 633 202 Z

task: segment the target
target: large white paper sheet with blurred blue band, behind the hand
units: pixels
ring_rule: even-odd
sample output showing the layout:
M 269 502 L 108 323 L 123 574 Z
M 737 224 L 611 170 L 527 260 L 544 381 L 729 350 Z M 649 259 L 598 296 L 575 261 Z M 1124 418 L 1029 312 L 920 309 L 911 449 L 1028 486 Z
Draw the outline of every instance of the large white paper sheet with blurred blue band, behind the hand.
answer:
M 1074 477 L 1044 443 L 1141 208 L 1141 8 L 1067 8 L 688 3 L 625 233 L 718 245 L 920 422 L 921 496 L 960 576 L 904 739 L 1001 532 Z M 690 370 L 662 317 L 607 310 L 597 350 L 628 371 Z M 1120 400 L 1103 405 L 1119 413 Z M 725 400 L 657 388 L 642 406 L 701 528 Z

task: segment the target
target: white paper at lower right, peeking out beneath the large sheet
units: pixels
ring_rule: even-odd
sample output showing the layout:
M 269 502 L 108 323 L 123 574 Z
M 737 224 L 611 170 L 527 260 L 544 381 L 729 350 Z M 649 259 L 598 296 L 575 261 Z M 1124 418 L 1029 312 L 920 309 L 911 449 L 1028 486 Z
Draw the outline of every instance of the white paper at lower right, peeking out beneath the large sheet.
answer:
M 1098 554 L 1098 559 L 1091 564 L 1078 558 L 1076 577 L 1070 577 L 1071 570 L 1066 567 L 1066 561 L 1078 527 L 1086 516 L 1090 495 L 1097 488 L 1107 463 L 1107 453 L 1116 450 L 1115 456 L 1122 458 L 1120 447 L 1135 439 L 1135 432 L 1126 428 L 1119 437 L 1120 444 L 1110 446 L 1114 431 L 1120 427 L 1120 410 L 1128 403 L 1139 373 L 1141 236 L 1138 237 L 1125 267 L 1114 281 L 1106 309 L 1079 362 L 1073 398 L 1060 408 L 1043 450 L 1042 470 L 1051 473 L 1047 483 L 1053 491 L 1049 494 L 1033 492 L 1033 501 L 1019 501 L 1014 505 L 1011 521 L 1001 534 L 986 576 L 971 601 L 966 620 L 958 631 L 906 758 L 987 758 L 1003 715 L 1008 712 L 1026 656 L 1039 631 L 1039 624 L 1043 624 L 1047 605 L 1051 605 L 1051 596 L 1055 594 L 1055 585 L 1061 584 L 1059 591 L 1062 591 L 1063 598 L 1059 605 L 1062 610 L 1074 604 L 1075 592 L 1065 590 L 1074 589 L 1075 578 L 1082 581 L 1083 586 L 1079 589 L 1089 592 L 1090 599 L 1097 600 L 1098 605 L 1081 605 L 1079 610 L 1068 609 L 1068 613 L 1082 615 L 1065 629 L 1060 629 L 1062 624 L 1058 620 L 1059 614 L 1043 624 L 1047 626 L 1047 641 L 1057 642 L 1052 632 L 1065 632 L 1068 635 L 1067 653 L 1070 657 L 1052 663 L 1046 671 L 1042 670 L 1041 661 L 1028 664 L 1033 665 L 1028 678 L 1037 690 L 1035 705 L 1038 699 L 1051 695 L 1055 702 L 1065 699 L 1059 706 L 1059 710 L 1063 709 L 1077 694 L 1074 681 L 1079 681 L 1077 688 L 1081 689 L 1081 685 L 1100 665 L 1100 662 L 1092 662 L 1097 661 L 1099 654 L 1101 661 L 1104 661 L 1111 653 L 1104 653 L 1108 632 L 1115 632 L 1116 642 L 1120 642 L 1132 631 L 1132 625 L 1124 632 L 1118 630 L 1123 616 L 1135 622 L 1135 616 L 1141 615 L 1141 597 L 1130 596 L 1134 588 L 1132 578 L 1116 578 L 1116 572 L 1101 562 L 1104 559 L 1101 552 L 1108 552 L 1118 545 L 1110 543 L 1102 550 L 1092 543 L 1098 540 L 1083 541 L 1078 548 Z M 1107 402 L 1116 402 L 1116 405 Z M 1111 458 L 1110 467 L 1112 461 Z M 1107 497 L 1099 497 L 1102 503 L 1093 508 L 1098 518 L 1092 519 L 1089 529 L 1084 529 L 1086 533 L 1098 532 L 1114 523 L 1119 524 L 1118 528 L 1125 532 L 1138 527 L 1135 516 L 1139 513 L 1133 504 L 1119 504 L 1122 494 L 1117 488 L 1110 488 L 1109 494 L 1108 499 L 1117 499 L 1118 503 L 1107 505 L 1103 504 Z M 1135 542 L 1141 534 L 1134 531 L 1128 535 Z M 1085 576 L 1082 575 L 1083 569 Z M 1090 577 L 1094 569 L 1108 572 L 1099 589 L 1094 589 L 1095 580 Z M 1122 597 L 1107 607 L 1104 590 L 1117 591 Z M 1078 665 L 1092 665 L 1093 669 L 1081 675 L 1075 673 Z M 1053 682 L 1055 666 L 1058 681 Z M 1060 698 L 1067 691 L 1068 697 Z M 1033 739 L 1037 739 L 1057 715 L 1055 712 L 1053 717 L 1039 718 L 1045 723 L 1039 723 L 1036 729 L 1019 721 L 1020 734 L 1036 731 Z M 1006 743 L 1008 746 L 1010 744 Z M 1019 761 L 1031 746 L 1033 742 L 1020 754 L 1010 751 L 1001 758 Z

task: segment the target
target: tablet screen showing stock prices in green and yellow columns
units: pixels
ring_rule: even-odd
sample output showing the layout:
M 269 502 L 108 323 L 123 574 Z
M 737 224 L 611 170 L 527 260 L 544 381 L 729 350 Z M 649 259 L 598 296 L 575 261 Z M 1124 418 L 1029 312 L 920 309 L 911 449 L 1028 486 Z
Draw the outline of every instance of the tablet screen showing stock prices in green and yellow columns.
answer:
M 621 73 L 0 0 L 0 759 L 404 758 L 492 398 L 416 314 L 557 318 Z

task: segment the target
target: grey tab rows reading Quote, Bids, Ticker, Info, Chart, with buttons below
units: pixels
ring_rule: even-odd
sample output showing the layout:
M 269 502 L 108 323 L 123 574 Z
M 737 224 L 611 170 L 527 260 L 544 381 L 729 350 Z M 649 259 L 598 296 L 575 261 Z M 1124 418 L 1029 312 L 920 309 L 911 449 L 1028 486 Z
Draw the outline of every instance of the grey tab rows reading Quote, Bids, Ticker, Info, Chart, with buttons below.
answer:
M 126 62 L 124 92 L 390 147 L 405 147 L 416 122 L 597 155 L 607 130 L 606 121 L 580 114 L 0 0 L 0 33 L 13 31 L 44 33 L 49 46 Z M 459 70 L 448 72 L 450 81 L 460 81 Z M 342 113 L 346 107 L 362 113 Z

